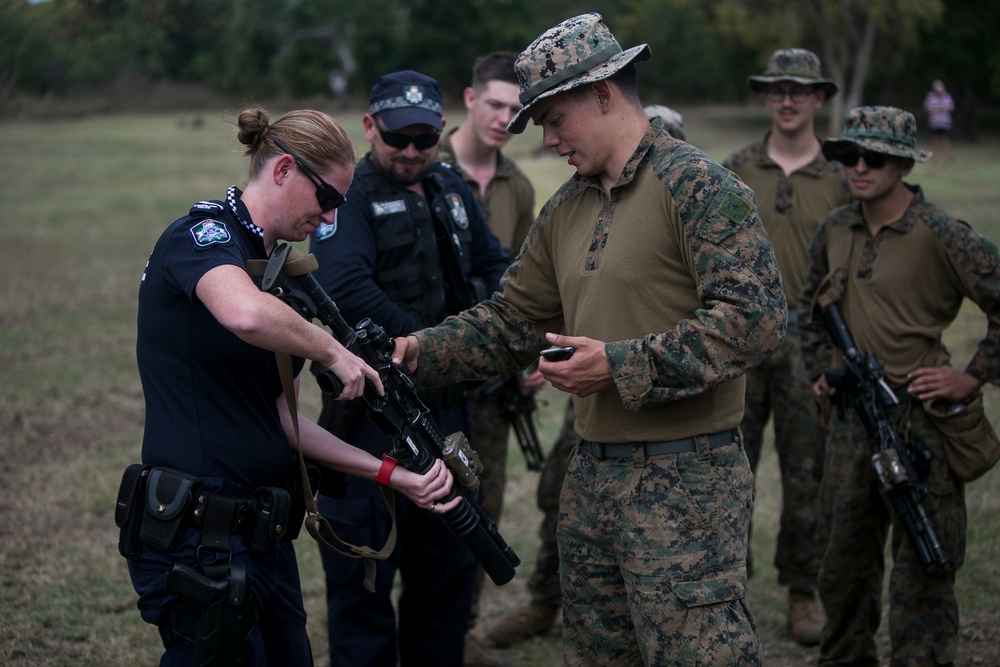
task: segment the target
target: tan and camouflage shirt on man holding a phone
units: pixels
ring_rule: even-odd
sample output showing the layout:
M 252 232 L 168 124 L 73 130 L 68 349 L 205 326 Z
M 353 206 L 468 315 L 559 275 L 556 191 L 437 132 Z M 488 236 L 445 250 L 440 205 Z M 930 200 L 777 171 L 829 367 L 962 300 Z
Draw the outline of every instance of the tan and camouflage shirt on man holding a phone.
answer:
M 654 121 L 610 197 L 576 174 L 543 207 L 500 293 L 417 333 L 418 379 L 516 371 L 565 327 L 607 341 L 614 378 L 574 397 L 581 437 L 690 437 L 740 423 L 743 375 L 777 349 L 785 319 L 753 193 Z

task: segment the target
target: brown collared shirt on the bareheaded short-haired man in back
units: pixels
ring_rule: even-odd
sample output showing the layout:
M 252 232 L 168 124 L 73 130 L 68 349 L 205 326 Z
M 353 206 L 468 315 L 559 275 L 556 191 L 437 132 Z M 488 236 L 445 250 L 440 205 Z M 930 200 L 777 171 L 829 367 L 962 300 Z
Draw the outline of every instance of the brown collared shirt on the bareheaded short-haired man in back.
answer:
M 535 189 L 517 163 L 497 151 L 496 173 L 486 186 L 484 197 L 479 182 L 458 164 L 455 150 L 451 146 L 451 135 L 454 132 L 452 130 L 441 140 L 437 159 L 450 164 L 462 175 L 483 209 L 490 229 L 500 239 L 504 249 L 514 257 L 524 244 L 531 223 L 535 220 Z

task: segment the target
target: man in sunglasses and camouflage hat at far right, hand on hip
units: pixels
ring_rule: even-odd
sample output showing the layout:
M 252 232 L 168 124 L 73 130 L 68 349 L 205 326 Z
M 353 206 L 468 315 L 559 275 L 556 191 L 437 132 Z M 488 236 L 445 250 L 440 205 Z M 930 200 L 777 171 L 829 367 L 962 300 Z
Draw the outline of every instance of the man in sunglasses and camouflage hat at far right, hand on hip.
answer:
M 813 240 L 799 302 L 802 343 L 818 398 L 833 394 L 823 370 L 842 353 L 822 326 L 821 304 L 837 303 L 857 348 L 885 365 L 900 404 L 890 415 L 931 452 L 926 510 L 950 567 L 925 571 L 880 491 L 868 435 L 854 411 L 833 420 L 820 489 L 825 544 L 819 595 L 827 621 L 820 665 L 880 665 L 875 632 L 882 615 L 885 542 L 892 529 L 889 639 L 894 667 L 958 661 L 955 574 L 965 558 L 965 492 L 951 473 L 941 432 L 925 404 L 975 399 L 1000 380 L 1000 256 L 997 246 L 903 181 L 917 148 L 913 114 L 869 106 L 847 114 L 823 154 L 844 166 L 854 203 L 827 216 Z M 965 367 L 953 368 L 941 342 L 963 301 L 985 313 L 986 335 Z M 933 407 L 931 407 L 934 410 Z

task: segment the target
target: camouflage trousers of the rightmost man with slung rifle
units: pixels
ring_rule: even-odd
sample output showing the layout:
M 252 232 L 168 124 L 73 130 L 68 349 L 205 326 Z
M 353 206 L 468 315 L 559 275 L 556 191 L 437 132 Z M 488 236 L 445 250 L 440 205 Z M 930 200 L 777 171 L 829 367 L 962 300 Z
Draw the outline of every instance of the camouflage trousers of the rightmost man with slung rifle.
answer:
M 893 667 L 953 662 L 958 644 L 955 572 L 965 560 L 965 494 L 952 479 L 940 432 L 919 405 L 896 409 L 898 422 L 931 451 L 931 469 L 921 501 L 952 571 L 928 574 L 903 526 L 879 491 L 868 436 L 853 410 L 834 420 L 826 444 L 821 491 L 820 539 L 826 544 L 819 594 L 827 622 L 819 664 L 886 664 L 876 652 L 881 623 L 885 543 L 892 530 L 889 575 L 889 638 Z M 899 412 L 904 416 L 900 417 Z

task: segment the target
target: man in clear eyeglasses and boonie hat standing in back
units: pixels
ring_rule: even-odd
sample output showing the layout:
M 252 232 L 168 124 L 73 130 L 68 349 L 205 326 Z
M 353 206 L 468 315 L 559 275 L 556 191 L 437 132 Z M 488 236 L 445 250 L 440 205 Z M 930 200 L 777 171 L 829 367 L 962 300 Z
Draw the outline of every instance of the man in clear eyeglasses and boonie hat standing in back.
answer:
M 843 170 L 823 157 L 814 122 L 837 85 L 821 74 L 820 60 L 806 49 L 771 54 L 767 69 L 747 84 L 771 114 L 764 138 L 730 155 L 734 171 L 757 196 L 757 210 L 781 267 L 788 300 L 788 333 L 781 348 L 747 373 L 746 410 L 740 429 L 750 466 L 757 471 L 768 419 L 781 471 L 781 520 L 774 565 L 788 588 L 787 627 L 803 645 L 819 643 L 823 616 L 816 603 L 819 545 L 816 542 L 819 478 L 824 433 L 802 362 L 795 303 L 806 271 L 806 249 L 820 220 L 850 200 Z M 753 523 L 751 522 L 751 531 Z M 747 558 L 753 575 L 753 552 Z

